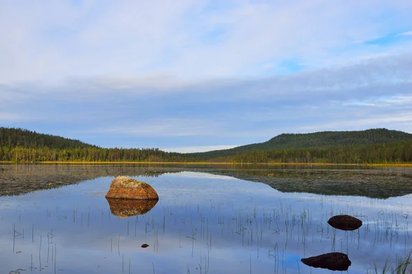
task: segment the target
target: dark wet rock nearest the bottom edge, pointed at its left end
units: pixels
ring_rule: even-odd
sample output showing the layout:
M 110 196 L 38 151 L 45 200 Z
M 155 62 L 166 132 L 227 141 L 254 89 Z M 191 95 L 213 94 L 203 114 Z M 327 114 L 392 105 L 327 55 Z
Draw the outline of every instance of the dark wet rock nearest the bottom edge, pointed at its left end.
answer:
M 332 271 L 347 271 L 352 264 L 347 255 L 340 252 L 325 253 L 319 256 L 301 259 L 308 266 Z

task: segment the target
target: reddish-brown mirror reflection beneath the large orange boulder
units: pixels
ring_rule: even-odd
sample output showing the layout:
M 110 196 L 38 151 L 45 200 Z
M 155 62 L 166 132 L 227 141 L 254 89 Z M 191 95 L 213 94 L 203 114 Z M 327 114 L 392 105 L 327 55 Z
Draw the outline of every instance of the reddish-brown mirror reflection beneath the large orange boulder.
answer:
M 156 206 L 157 200 L 133 200 L 106 198 L 110 211 L 119 218 L 146 214 Z

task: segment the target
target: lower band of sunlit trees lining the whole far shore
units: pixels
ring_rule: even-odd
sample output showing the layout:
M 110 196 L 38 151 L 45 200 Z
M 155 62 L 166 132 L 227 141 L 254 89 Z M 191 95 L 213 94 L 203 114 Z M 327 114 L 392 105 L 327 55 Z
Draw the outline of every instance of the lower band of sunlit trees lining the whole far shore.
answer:
M 9 162 L 231 162 L 381 164 L 412 162 L 412 141 L 390 144 L 313 147 L 250 151 L 217 158 L 194 157 L 159 149 L 52 149 L 0 147 L 0 160 Z

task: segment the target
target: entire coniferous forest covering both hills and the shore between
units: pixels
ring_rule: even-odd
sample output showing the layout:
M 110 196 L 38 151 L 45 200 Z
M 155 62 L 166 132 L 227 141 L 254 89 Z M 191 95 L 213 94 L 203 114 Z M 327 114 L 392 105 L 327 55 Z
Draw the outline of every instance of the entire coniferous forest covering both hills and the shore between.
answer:
M 412 162 L 412 134 L 388 129 L 281 134 L 267 142 L 233 149 L 170 153 L 107 149 L 27 129 L 0 127 L 0 161 L 402 164 Z

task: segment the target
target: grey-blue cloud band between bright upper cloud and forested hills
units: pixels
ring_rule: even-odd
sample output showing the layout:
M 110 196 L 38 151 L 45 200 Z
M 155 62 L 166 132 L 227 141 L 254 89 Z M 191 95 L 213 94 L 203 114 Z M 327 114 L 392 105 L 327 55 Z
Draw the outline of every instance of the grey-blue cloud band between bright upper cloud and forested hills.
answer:
M 99 77 L 3 85 L 0 110 L 8 115 L 1 120 L 36 131 L 41 124 L 61 136 L 76 132 L 76 138 L 104 147 L 181 151 L 263 142 L 284 132 L 371 127 L 412 132 L 411 62 L 411 54 L 387 54 L 294 75 L 170 81 L 170 86 L 158 85 L 161 77 L 125 78 L 127 87 Z

